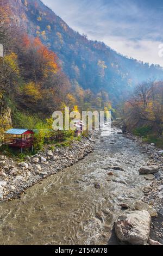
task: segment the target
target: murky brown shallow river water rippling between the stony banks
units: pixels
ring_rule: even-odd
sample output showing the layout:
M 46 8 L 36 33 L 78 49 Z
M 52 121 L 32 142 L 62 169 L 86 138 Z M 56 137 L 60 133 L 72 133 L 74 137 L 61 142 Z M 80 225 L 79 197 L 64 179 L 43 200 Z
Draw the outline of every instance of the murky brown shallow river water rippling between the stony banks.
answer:
M 147 181 L 139 168 L 147 160 L 116 129 L 99 137 L 84 160 L 29 188 L 21 199 L 0 204 L 0 244 L 106 245 L 123 213 L 118 204 L 132 205 L 143 195 Z M 112 170 L 111 164 L 125 172 Z

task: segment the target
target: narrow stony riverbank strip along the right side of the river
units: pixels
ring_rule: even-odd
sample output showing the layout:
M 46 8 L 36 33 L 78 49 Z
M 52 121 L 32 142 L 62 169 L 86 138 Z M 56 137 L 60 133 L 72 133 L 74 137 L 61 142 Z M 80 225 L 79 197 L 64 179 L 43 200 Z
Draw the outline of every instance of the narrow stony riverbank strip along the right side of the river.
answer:
M 145 176 L 151 181 L 150 186 L 145 188 L 142 201 L 151 205 L 157 212 L 158 217 L 152 218 L 150 237 L 163 244 L 163 151 L 155 145 L 147 144 L 131 133 L 126 133 L 125 137 L 131 139 L 142 148 L 142 153 L 149 157 L 149 166 L 158 166 L 159 172 Z

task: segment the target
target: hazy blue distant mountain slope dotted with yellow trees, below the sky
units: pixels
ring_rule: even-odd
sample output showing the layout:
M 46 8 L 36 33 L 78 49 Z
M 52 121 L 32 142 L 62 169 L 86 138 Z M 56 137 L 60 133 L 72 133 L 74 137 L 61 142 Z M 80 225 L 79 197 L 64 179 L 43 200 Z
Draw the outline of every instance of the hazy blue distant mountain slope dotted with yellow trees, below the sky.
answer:
M 8 5 L 10 21 L 39 36 L 43 44 L 57 53 L 62 69 L 72 83 L 94 92 L 106 90 L 112 100 L 125 95 L 136 83 L 161 80 L 160 66 L 149 66 L 111 50 L 103 42 L 87 40 L 73 31 L 40 0 L 1 0 Z

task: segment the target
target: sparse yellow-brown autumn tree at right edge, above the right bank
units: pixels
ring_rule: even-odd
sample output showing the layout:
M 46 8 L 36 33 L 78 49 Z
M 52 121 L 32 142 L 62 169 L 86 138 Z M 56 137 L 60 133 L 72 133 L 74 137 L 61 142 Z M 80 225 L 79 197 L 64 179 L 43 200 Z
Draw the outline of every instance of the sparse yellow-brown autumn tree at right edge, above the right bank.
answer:
M 163 125 L 163 83 L 145 82 L 135 88 L 124 103 L 124 117 L 130 129 L 151 125 L 159 134 Z

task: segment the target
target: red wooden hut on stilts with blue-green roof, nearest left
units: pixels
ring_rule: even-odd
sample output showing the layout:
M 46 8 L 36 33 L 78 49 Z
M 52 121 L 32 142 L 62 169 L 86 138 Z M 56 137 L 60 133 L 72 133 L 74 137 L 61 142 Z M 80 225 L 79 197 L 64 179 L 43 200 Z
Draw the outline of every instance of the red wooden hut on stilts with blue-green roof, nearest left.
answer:
M 34 132 L 26 129 L 10 129 L 4 133 L 4 144 L 10 147 L 32 148 L 34 143 Z

